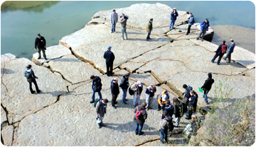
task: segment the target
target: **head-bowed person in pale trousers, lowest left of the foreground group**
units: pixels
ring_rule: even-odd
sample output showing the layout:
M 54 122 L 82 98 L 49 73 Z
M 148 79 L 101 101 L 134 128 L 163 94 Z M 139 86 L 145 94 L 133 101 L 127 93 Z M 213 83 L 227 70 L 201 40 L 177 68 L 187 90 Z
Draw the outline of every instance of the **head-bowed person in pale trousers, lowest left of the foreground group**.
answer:
M 97 118 L 97 126 L 105 127 L 106 124 L 103 124 L 103 117 L 107 113 L 107 99 L 99 100 L 97 104 L 95 105 L 95 112 L 96 112 L 96 118 Z

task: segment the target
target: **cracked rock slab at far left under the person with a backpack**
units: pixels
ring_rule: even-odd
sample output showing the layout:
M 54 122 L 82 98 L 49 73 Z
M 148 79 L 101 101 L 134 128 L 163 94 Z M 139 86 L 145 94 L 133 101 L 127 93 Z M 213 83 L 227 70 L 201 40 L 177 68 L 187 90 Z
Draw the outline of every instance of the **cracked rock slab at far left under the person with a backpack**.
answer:
M 23 76 L 28 64 L 32 65 L 32 69 L 38 77 L 36 82 L 41 93 L 30 93 L 29 84 L 26 81 L 26 77 Z M 6 90 L 4 93 L 1 91 L 1 104 L 9 112 L 7 117 L 10 124 L 53 104 L 58 95 L 68 92 L 68 82 L 45 67 L 36 66 L 28 59 L 11 60 L 6 63 L 5 67 L 13 71 L 12 73 L 4 73 L 2 83 L 6 86 Z M 4 86 L 1 86 L 1 90 Z M 32 88 L 36 90 L 34 85 Z

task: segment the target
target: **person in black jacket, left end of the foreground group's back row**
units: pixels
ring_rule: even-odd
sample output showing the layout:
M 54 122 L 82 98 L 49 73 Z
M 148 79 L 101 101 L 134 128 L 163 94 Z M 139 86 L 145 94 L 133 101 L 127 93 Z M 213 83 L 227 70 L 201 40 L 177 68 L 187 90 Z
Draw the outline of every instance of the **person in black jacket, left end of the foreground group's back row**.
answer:
M 90 76 L 90 79 L 92 80 L 92 101 L 90 103 L 95 102 L 95 93 L 97 92 L 100 99 L 102 99 L 102 95 L 100 93 L 100 90 L 102 90 L 102 83 L 99 76 Z

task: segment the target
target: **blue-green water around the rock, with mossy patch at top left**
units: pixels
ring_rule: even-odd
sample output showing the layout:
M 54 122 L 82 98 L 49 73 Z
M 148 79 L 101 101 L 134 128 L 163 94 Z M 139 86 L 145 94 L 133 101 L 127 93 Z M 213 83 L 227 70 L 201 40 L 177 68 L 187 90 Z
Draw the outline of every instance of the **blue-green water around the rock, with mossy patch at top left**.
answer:
M 18 2 L 20 4 L 15 5 Z M 239 25 L 255 29 L 255 4 L 251 1 L 18 2 L 11 1 L 10 6 L 1 6 L 1 54 L 11 53 L 28 59 L 36 52 L 34 43 L 38 33 L 46 38 L 47 47 L 58 45 L 62 37 L 85 27 L 97 11 L 137 3 L 161 3 L 180 11 L 189 11 L 198 23 L 208 18 L 212 26 Z

